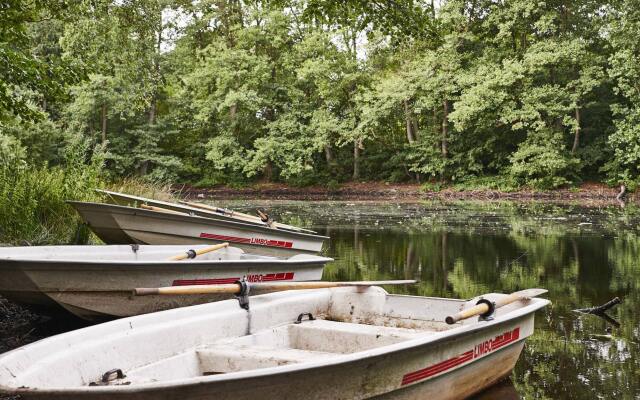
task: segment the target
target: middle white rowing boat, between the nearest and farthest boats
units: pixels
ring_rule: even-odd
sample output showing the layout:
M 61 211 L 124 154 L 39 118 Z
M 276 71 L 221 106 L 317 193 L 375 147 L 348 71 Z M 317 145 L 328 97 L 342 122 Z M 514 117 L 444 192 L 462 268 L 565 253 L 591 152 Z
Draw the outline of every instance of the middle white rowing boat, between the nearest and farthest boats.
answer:
M 196 246 L 0 247 L 0 295 L 45 313 L 66 311 L 87 320 L 144 314 L 228 299 L 229 295 L 131 296 L 138 286 L 182 286 L 322 278 L 330 258 L 278 258 L 221 248 L 194 259 L 169 260 Z

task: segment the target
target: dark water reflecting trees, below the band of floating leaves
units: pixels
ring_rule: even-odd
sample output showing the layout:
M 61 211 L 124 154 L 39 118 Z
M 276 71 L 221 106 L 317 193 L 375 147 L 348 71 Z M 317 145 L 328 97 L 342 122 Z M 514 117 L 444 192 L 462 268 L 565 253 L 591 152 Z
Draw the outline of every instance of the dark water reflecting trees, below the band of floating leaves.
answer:
M 417 278 L 402 293 L 468 298 L 489 291 L 549 289 L 553 306 L 514 374 L 524 398 L 633 399 L 640 395 L 640 241 L 636 234 L 580 234 L 561 225 L 535 233 L 514 216 L 510 231 L 359 228 L 332 233 L 329 279 Z M 526 225 L 526 227 L 524 226 Z M 533 232 L 533 233 L 532 233 Z M 575 308 L 615 296 L 620 328 Z

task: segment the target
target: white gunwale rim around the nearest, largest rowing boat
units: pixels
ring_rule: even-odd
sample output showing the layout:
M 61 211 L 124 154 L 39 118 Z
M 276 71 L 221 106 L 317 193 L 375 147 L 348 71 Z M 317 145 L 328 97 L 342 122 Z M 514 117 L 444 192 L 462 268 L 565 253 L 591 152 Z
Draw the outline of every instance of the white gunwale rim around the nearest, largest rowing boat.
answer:
M 332 289 L 311 289 L 311 290 L 332 290 Z M 334 289 L 335 290 L 335 289 Z M 307 290 L 303 290 L 303 291 L 299 291 L 298 293 L 302 293 L 302 292 L 307 292 Z M 269 294 L 265 294 L 263 296 L 269 296 Z M 387 294 L 387 296 L 390 297 L 420 297 L 420 298 L 424 298 L 424 296 L 411 296 L 411 295 L 390 295 Z M 440 300 L 458 300 L 460 302 L 466 302 L 466 300 L 462 300 L 462 299 L 448 299 L 448 298 L 440 298 L 440 297 L 430 297 L 431 299 L 440 299 Z M 217 304 L 223 303 L 223 302 L 236 302 L 236 300 L 224 300 L 221 302 L 217 302 Z M 447 342 L 447 341 L 453 341 L 455 339 L 464 337 L 464 336 L 468 336 L 468 335 L 472 335 L 476 332 L 479 331 L 483 331 L 483 330 L 487 330 L 488 328 L 493 328 L 499 325 L 505 325 L 508 324 L 509 322 L 515 321 L 515 320 L 519 320 L 519 319 L 524 319 L 525 317 L 529 316 L 530 314 L 535 313 L 536 311 L 544 308 L 545 306 L 547 306 L 548 304 L 550 304 L 551 302 L 547 299 L 542 299 L 542 298 L 533 298 L 529 300 L 529 304 L 525 305 L 524 307 L 521 307 L 519 309 L 510 311 L 504 315 L 498 315 L 496 316 L 494 319 L 490 320 L 490 321 L 478 321 L 474 324 L 469 324 L 469 325 L 460 325 L 458 327 L 446 330 L 446 331 L 441 331 L 441 332 L 435 332 L 429 335 L 425 335 L 424 337 L 417 337 L 415 339 L 408 339 L 399 343 L 395 343 L 395 344 L 390 344 L 387 346 L 381 346 L 381 347 L 376 347 L 373 349 L 368 349 L 368 350 L 363 350 L 363 351 L 359 351 L 359 352 L 355 352 L 355 353 L 347 353 L 347 354 L 336 354 L 335 358 L 332 359 L 325 359 L 325 360 L 320 360 L 320 361 L 310 361 L 310 362 L 304 362 L 304 363 L 296 363 L 296 364 L 288 364 L 288 365 L 281 365 L 281 366 L 275 366 L 275 367 L 268 367 L 268 368 L 260 368 L 260 369 L 252 369 L 252 370 L 246 370 L 246 371 L 237 371 L 237 372 L 230 372 L 230 373 L 226 373 L 226 374 L 219 374 L 219 375 L 209 375 L 209 376 L 194 376 L 194 377 L 190 377 L 190 378 L 186 378 L 186 379 L 180 379 L 180 380 L 167 380 L 167 381 L 161 381 L 161 382 L 147 382 L 147 383 L 139 383 L 136 385 L 127 385 L 127 386 L 72 386 L 72 387 L 58 387 L 58 388 L 10 388 L 7 387 L 5 385 L 0 384 L 0 393 L 7 393 L 7 394 L 12 394 L 12 395 L 20 395 L 20 394 L 29 394 L 29 393 L 37 393 L 37 394 L 87 394 L 87 393 L 91 393 L 91 392 L 99 392 L 100 394 L 109 394 L 109 393 L 113 393 L 113 394 L 118 394 L 118 393 L 141 393 L 141 392 L 145 392 L 145 391 L 149 391 L 149 390 L 161 390 L 161 389 L 166 389 L 166 388 L 180 388 L 180 387 L 189 387 L 189 386 L 194 386 L 194 385 L 203 385 L 203 384 L 210 384 L 210 383 L 224 383 L 224 382 L 231 382 L 231 381 L 235 381 L 235 380 L 243 380 L 243 379 L 253 379 L 253 378 L 260 378 L 260 377 L 265 377 L 265 376 L 270 376 L 270 375 L 281 375 L 281 374 L 288 374 L 288 373 L 293 373 L 293 372 L 300 372 L 300 371 L 308 371 L 308 370 L 313 370 L 313 369 L 317 369 L 317 368 L 327 368 L 327 367 L 334 367 L 334 366 L 338 366 L 338 365 L 342 365 L 342 364 L 349 364 L 349 363 L 354 363 L 354 362 L 359 362 L 359 361 L 364 361 L 364 360 L 369 360 L 372 358 L 377 358 L 377 357 L 385 357 L 385 356 L 392 356 L 393 353 L 399 353 L 399 352 L 403 352 L 403 351 L 410 351 L 411 349 L 417 348 L 417 347 L 422 347 L 425 345 L 436 345 L 438 343 L 442 343 L 442 342 Z M 216 304 L 216 303 L 213 303 Z M 204 305 L 200 305 L 200 306 L 194 306 L 194 307 L 207 307 L 207 306 L 211 306 L 212 304 L 204 304 Z M 162 312 L 179 312 L 181 309 L 174 309 L 174 310 L 167 310 L 167 311 L 161 311 Z M 117 322 L 122 322 L 122 321 L 127 321 L 129 318 L 136 318 L 136 317 L 128 317 L 128 318 L 123 318 L 120 320 L 116 320 L 113 322 L 108 322 L 109 323 L 117 323 Z M 176 320 L 174 319 L 174 322 Z M 83 328 L 83 329 L 91 329 L 92 327 L 87 327 L 87 328 Z M 55 336 L 54 336 L 55 337 Z M 43 340 L 47 340 L 47 339 L 43 339 Z M 516 343 L 519 343 L 521 341 L 526 340 L 526 337 L 520 338 L 517 341 L 514 341 L 513 343 L 509 344 L 508 346 L 505 346 L 503 349 L 507 349 L 510 348 L 512 345 L 515 345 Z M 36 344 L 38 342 L 35 342 L 34 344 Z M 24 346 L 24 347 L 29 347 L 30 345 Z M 2 355 L 9 355 L 13 352 L 17 352 L 20 351 L 21 349 L 24 349 L 24 347 L 22 348 L 18 348 L 15 350 L 12 350 L 8 353 L 5 353 Z M 186 349 L 185 349 L 186 350 Z M 502 349 L 501 349 L 502 350 Z M 23 350 L 24 351 L 24 350 Z M 180 353 L 177 353 L 180 354 Z M 1 358 L 0 357 L 0 360 Z M 467 365 L 471 365 L 473 363 L 473 361 L 471 363 L 468 364 L 464 364 L 462 366 L 460 366 L 459 368 L 464 368 Z M 456 368 L 457 369 L 457 368 Z M 436 377 L 437 378 L 437 377 Z M 419 382 L 416 382 L 419 383 Z

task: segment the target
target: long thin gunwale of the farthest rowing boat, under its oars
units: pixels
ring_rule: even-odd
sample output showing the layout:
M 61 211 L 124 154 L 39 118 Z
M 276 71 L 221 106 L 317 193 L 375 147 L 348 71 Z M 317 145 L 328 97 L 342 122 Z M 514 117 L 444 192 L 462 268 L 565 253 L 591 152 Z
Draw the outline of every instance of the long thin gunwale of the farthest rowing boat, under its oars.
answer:
M 113 209 L 116 209 L 117 211 L 120 211 L 119 214 L 125 214 L 125 215 L 132 215 L 132 214 L 135 215 L 136 213 L 140 213 L 144 216 L 161 217 L 169 220 L 181 220 L 184 218 L 190 218 L 190 219 L 198 220 L 198 222 L 205 222 L 208 225 L 211 225 L 211 224 L 223 224 L 223 225 L 227 224 L 231 226 L 240 225 L 243 228 L 247 228 L 255 231 L 265 231 L 270 233 L 276 232 L 278 234 L 285 234 L 285 235 L 294 236 L 294 237 L 298 236 L 298 237 L 306 237 L 306 238 L 313 238 L 313 239 L 322 239 L 322 241 L 330 239 L 329 236 L 323 236 L 323 235 L 307 233 L 307 232 L 297 232 L 297 231 L 286 230 L 286 229 L 272 228 L 266 225 L 257 225 L 257 224 L 252 224 L 250 222 L 240 221 L 240 220 L 214 219 L 214 218 L 207 218 L 207 217 L 202 217 L 198 215 L 189 215 L 186 213 L 183 213 L 183 215 L 178 215 L 178 214 L 164 213 L 162 211 L 145 210 L 143 208 L 123 206 L 119 204 L 97 203 L 97 202 L 91 202 L 91 201 L 67 200 L 67 203 L 74 206 L 74 208 L 75 208 L 75 205 L 89 205 L 92 207 L 105 208 L 105 209 L 113 208 Z M 78 210 L 77 208 L 76 208 L 76 211 L 80 212 L 80 210 Z M 112 212 L 110 210 L 94 210 L 93 212 L 98 212 L 98 211 L 103 213 Z

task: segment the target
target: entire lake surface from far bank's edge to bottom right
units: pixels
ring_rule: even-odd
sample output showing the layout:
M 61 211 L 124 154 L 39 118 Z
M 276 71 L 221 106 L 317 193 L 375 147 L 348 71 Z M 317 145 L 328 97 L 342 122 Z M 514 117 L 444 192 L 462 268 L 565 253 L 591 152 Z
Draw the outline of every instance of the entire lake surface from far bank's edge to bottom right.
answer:
M 518 203 L 225 201 L 331 236 L 327 280 L 418 279 L 389 288 L 470 298 L 542 287 L 553 305 L 511 380 L 476 399 L 640 398 L 640 210 Z M 573 312 L 614 297 L 619 326 Z

